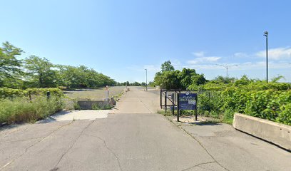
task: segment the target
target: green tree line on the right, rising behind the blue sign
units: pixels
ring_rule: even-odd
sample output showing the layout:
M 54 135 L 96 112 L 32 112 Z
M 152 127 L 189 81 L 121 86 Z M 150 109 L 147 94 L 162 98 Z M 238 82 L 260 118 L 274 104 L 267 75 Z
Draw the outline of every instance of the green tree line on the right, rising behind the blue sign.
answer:
M 283 76 L 272 78 L 270 83 L 277 83 Z M 222 89 L 225 86 L 241 86 L 254 83 L 256 86 L 267 86 L 266 81 L 260 79 L 251 79 L 247 76 L 241 78 L 217 76 L 213 80 L 207 80 L 204 74 L 196 73 L 195 69 L 183 68 L 182 71 L 175 70 L 170 61 L 165 61 L 160 66 L 160 71 L 155 73 L 153 85 L 165 89 L 190 89 L 198 90 L 199 88 Z M 280 86 L 290 86 L 290 83 L 277 83 Z M 273 86 L 269 84 L 269 86 Z M 268 87 L 268 86 L 267 86 Z

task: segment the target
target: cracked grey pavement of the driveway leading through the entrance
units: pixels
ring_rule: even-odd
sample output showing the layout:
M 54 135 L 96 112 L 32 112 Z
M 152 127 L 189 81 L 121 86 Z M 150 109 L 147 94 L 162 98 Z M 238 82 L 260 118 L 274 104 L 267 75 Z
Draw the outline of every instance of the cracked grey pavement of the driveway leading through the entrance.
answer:
M 108 118 L 10 125 L 0 170 L 291 170 L 290 152 L 231 125 L 180 125 L 154 114 L 158 95 L 137 88 Z

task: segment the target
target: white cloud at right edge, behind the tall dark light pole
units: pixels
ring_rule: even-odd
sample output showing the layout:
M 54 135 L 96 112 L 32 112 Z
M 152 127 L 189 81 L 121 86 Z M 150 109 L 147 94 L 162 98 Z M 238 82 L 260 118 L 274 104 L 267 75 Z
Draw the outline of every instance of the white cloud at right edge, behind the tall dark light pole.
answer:
M 265 58 L 266 51 L 259 51 L 255 55 Z M 291 48 L 271 48 L 268 50 L 268 58 L 273 60 L 291 59 Z

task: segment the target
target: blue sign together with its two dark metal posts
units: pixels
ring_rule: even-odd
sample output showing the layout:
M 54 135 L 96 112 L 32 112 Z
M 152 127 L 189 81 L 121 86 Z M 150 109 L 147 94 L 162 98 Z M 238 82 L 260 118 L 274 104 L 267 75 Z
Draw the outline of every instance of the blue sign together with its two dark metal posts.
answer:
M 195 110 L 195 120 L 197 120 L 197 93 L 178 93 L 178 122 L 180 110 Z

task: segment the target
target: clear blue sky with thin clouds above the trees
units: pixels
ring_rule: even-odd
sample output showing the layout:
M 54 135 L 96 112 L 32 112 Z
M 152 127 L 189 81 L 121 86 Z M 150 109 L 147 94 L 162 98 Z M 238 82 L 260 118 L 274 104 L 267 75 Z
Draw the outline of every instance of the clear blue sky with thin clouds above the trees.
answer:
M 116 81 L 152 81 L 160 64 L 194 68 L 206 78 L 246 74 L 291 81 L 291 1 L 1 1 L 0 42 L 23 57 L 85 65 Z

